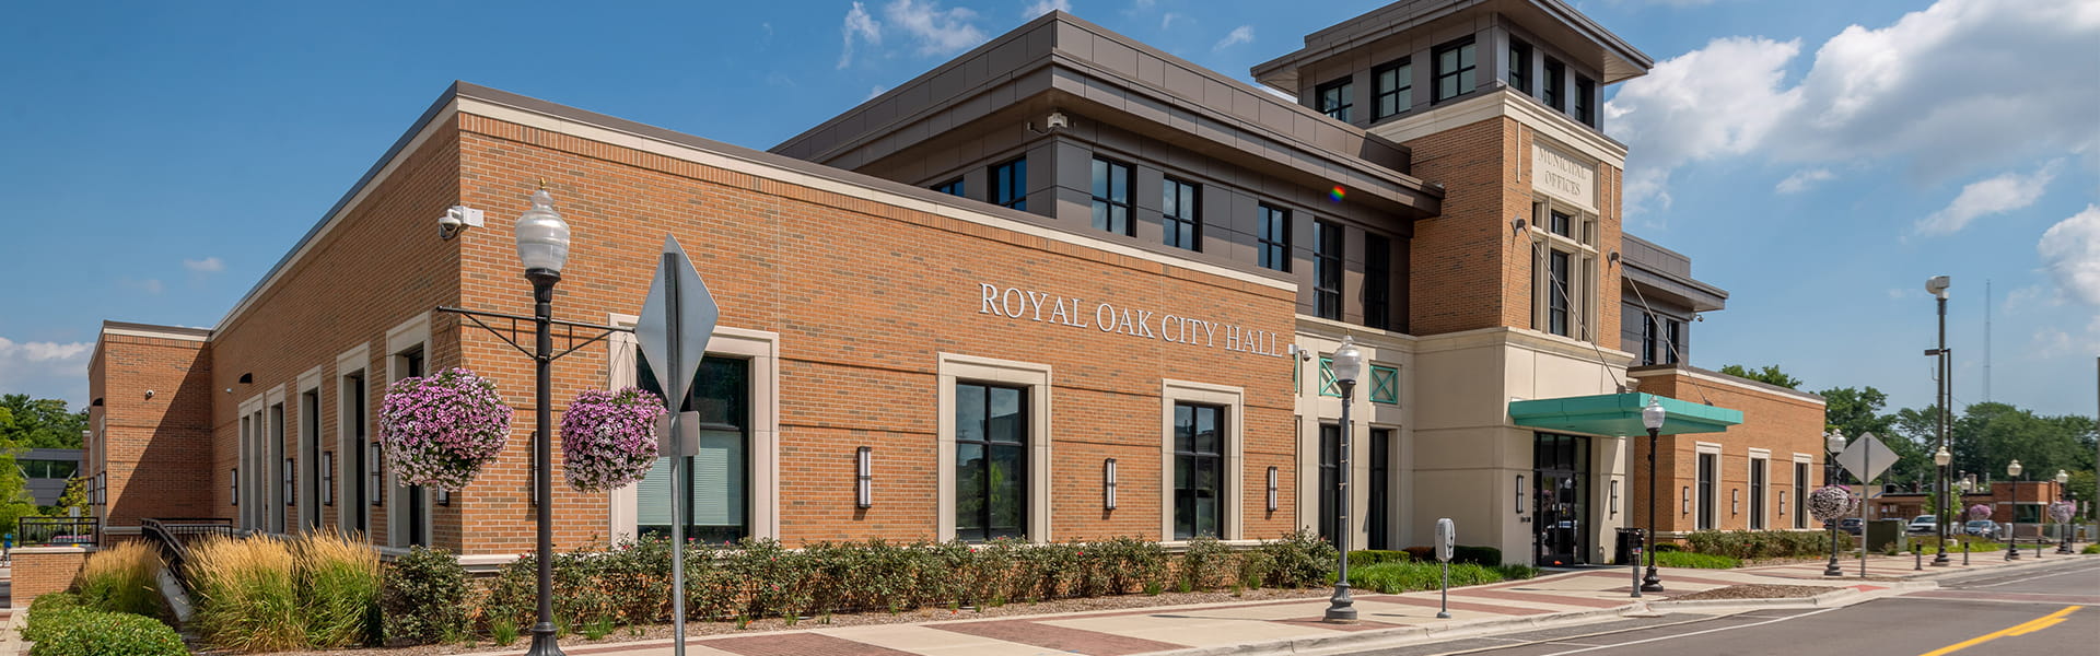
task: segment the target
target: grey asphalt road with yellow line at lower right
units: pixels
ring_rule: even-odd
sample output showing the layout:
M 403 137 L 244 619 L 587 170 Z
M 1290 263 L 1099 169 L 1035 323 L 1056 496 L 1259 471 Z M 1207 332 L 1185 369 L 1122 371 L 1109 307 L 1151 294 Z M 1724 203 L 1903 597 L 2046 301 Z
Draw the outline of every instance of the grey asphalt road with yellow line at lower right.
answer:
M 1829 610 L 1760 610 L 1508 633 L 1354 656 L 2100 654 L 2100 561 L 1940 578 L 1938 591 Z

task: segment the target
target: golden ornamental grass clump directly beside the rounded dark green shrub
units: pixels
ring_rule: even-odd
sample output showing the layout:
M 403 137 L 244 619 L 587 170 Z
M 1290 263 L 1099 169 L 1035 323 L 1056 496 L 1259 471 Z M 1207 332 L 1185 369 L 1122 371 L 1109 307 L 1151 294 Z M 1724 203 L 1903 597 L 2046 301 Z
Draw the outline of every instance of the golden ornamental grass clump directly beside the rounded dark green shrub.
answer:
M 338 650 L 378 641 L 380 553 L 338 532 L 292 542 L 307 645 Z

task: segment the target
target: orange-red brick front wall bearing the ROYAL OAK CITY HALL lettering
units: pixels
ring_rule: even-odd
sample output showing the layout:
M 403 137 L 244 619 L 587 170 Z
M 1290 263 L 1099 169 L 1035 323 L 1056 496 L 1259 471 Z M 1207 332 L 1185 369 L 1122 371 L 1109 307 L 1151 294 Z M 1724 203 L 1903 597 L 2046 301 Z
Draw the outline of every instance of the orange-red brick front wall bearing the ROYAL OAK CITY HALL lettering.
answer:
M 1294 463 L 1287 360 L 979 313 L 979 284 L 989 282 L 1082 296 L 1088 307 L 1107 301 L 1289 334 L 1289 290 L 479 116 L 462 118 L 460 145 L 462 202 L 491 217 L 489 229 L 460 240 L 466 307 L 531 307 L 508 217 L 527 208 L 533 181 L 546 177 L 575 231 L 554 301 L 559 317 L 638 313 L 668 231 L 720 303 L 722 326 L 779 334 L 779 513 L 790 545 L 934 536 L 939 353 L 1052 366 L 1058 540 L 1157 538 L 1161 378 L 1245 389 L 1245 458 L 1235 471 L 1245 481 L 1245 536 L 1273 538 L 1294 526 L 1287 511 L 1262 511 L 1266 467 L 1289 473 Z M 452 339 L 470 368 L 498 376 L 519 410 L 523 454 L 531 362 L 472 326 L 441 341 Z M 605 349 L 561 360 L 556 404 L 605 385 Z M 878 465 L 876 505 L 865 511 L 853 507 L 859 446 L 872 446 Z M 1113 513 L 1100 509 L 1105 456 L 1119 458 Z M 441 542 L 466 534 L 475 553 L 527 549 L 525 473 L 525 460 L 512 456 L 485 471 L 456 496 L 464 517 L 439 515 L 447 521 Z M 605 496 L 571 492 L 559 471 L 554 477 L 556 542 L 603 538 Z M 1281 507 L 1292 509 L 1292 481 L 1285 475 L 1281 484 Z

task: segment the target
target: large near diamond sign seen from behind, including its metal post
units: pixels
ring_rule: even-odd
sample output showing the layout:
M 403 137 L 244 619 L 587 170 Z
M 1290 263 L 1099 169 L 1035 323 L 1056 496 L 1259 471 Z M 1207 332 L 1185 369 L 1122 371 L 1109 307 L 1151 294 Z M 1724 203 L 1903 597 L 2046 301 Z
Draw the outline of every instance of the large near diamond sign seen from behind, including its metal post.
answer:
M 670 408 L 657 456 L 670 458 L 670 616 L 672 654 L 678 656 L 685 656 L 685 505 L 691 494 L 678 486 L 685 484 L 685 458 L 697 450 L 699 433 L 678 427 L 682 414 L 678 410 L 693 374 L 699 372 L 699 360 L 708 355 L 708 336 L 714 334 L 720 315 L 708 284 L 699 282 L 685 248 L 678 248 L 678 238 L 664 235 L 657 275 L 649 282 L 649 299 L 643 301 L 643 315 L 634 322 L 634 343 L 657 372 L 664 406 Z

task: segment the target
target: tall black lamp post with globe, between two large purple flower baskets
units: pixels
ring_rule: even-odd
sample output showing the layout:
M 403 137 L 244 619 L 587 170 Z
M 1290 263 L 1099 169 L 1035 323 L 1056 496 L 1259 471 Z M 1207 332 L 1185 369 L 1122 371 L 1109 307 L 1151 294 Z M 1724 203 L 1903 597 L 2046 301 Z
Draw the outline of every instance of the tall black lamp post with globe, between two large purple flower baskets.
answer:
M 533 458 L 533 494 L 544 494 L 536 505 L 538 511 L 538 557 L 540 568 L 540 614 L 531 624 L 531 650 L 527 656 L 559 656 L 561 645 L 554 641 L 554 410 L 550 397 L 550 366 L 554 364 L 554 284 L 561 282 L 561 265 L 569 261 L 569 223 L 561 221 L 554 212 L 554 196 L 546 193 L 546 181 L 540 183 L 540 191 L 531 193 L 531 208 L 519 214 L 517 223 L 519 240 L 519 261 L 525 265 L 525 280 L 531 282 L 533 299 L 533 427 L 540 431 L 540 439 L 531 444 Z

